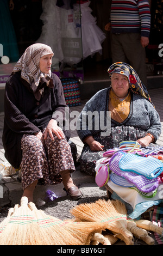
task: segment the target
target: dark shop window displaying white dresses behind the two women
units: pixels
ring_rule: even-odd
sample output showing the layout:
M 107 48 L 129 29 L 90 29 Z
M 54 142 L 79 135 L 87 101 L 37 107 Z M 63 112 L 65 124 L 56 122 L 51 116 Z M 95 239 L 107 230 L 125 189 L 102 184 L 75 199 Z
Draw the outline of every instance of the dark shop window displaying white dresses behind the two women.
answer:
M 0 82 L 35 42 L 52 47 L 52 72 L 59 77 L 108 79 L 110 33 L 104 27 L 111 0 L 1 0 Z M 148 76 L 162 74 L 162 0 L 150 0 L 151 35 L 146 47 Z M 107 7 L 107 8 L 106 8 Z M 161 46 L 160 46 L 161 47 Z M 0 84 L 1 86 L 1 84 Z

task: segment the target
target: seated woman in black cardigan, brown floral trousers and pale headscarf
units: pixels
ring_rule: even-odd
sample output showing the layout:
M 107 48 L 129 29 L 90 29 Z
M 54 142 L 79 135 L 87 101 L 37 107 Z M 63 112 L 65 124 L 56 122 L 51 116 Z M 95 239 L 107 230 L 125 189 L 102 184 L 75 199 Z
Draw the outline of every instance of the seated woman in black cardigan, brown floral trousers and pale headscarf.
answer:
M 47 45 L 29 46 L 5 86 L 5 157 L 14 168 L 21 167 L 23 196 L 29 201 L 38 181 L 62 181 L 72 199 L 82 197 L 71 178 L 75 167 L 70 133 L 64 130 L 67 105 L 61 81 L 51 72 L 53 55 Z

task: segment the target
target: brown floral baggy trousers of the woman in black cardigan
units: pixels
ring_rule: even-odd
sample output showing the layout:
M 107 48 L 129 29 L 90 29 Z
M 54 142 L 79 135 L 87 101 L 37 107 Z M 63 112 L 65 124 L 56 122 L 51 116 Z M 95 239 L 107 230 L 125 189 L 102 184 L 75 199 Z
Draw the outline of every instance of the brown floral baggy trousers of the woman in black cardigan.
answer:
M 39 184 L 58 184 L 62 181 L 60 172 L 74 172 L 71 148 L 66 139 L 59 139 L 53 133 L 54 141 L 49 134 L 43 145 L 35 135 L 23 135 L 21 139 L 22 161 L 21 181 L 23 190 L 35 180 Z

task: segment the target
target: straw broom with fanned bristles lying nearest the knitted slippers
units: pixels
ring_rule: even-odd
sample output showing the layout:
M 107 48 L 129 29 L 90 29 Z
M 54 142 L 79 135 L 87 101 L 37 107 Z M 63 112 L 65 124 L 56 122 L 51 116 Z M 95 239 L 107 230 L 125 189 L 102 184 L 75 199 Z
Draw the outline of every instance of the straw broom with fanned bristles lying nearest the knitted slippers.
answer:
M 117 201 L 117 200 L 116 200 Z M 111 200 L 105 201 L 99 199 L 94 203 L 85 203 L 75 206 L 71 214 L 77 221 L 92 221 L 104 223 L 105 229 L 122 234 L 126 239 L 133 239 L 133 234 L 127 229 L 127 216 L 120 214 L 115 206 L 121 208 L 121 211 L 127 212 L 124 204 Z

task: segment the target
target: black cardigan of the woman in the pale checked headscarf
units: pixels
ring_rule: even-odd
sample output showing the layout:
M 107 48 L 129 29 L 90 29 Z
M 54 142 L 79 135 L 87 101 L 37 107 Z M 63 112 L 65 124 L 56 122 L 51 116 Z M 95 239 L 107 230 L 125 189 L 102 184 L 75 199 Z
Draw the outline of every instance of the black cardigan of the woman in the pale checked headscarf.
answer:
M 5 158 L 11 166 L 19 168 L 21 154 L 21 138 L 23 134 L 33 134 L 43 130 L 56 111 L 62 113 L 65 122 L 67 107 L 59 77 L 52 74 L 53 88 L 45 86 L 41 99 L 38 101 L 32 91 L 23 84 L 21 71 L 11 75 L 5 86 L 4 94 L 4 127 L 3 147 Z M 53 118 L 55 119 L 54 115 Z M 63 123 L 64 125 L 64 123 Z M 68 141 L 70 131 L 64 131 Z

